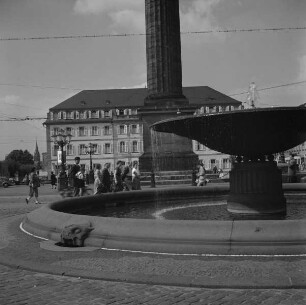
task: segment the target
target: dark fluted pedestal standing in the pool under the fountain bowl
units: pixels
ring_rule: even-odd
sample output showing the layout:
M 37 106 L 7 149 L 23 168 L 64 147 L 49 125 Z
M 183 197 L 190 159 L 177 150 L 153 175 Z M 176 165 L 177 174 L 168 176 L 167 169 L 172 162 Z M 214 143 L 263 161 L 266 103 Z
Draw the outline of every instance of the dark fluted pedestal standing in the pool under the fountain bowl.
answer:
M 235 163 L 227 210 L 233 214 L 286 214 L 281 171 L 276 162 Z

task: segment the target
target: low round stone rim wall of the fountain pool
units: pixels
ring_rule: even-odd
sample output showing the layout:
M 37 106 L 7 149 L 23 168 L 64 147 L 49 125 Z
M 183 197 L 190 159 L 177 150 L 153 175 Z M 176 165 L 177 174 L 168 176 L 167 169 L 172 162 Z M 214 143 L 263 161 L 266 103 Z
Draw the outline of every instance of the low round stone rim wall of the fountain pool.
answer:
M 178 254 L 300 254 L 306 252 L 306 220 L 191 221 L 74 215 L 69 211 L 116 202 L 199 198 L 228 192 L 219 186 L 154 189 L 66 199 L 26 215 L 25 231 L 60 241 L 70 224 L 90 223 L 85 246 Z

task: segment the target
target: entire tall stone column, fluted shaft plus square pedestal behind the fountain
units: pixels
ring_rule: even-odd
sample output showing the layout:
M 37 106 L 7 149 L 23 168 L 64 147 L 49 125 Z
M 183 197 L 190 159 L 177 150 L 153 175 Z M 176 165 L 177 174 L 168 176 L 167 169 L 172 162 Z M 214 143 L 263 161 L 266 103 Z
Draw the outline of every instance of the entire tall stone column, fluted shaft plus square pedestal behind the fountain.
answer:
M 157 121 L 195 111 L 182 92 L 179 0 L 146 0 L 145 9 L 148 95 L 139 111 L 144 121 L 140 170 L 152 171 L 155 165 L 158 171 L 191 171 L 198 157 L 190 139 L 160 134 L 162 145 L 153 153 L 149 130 Z

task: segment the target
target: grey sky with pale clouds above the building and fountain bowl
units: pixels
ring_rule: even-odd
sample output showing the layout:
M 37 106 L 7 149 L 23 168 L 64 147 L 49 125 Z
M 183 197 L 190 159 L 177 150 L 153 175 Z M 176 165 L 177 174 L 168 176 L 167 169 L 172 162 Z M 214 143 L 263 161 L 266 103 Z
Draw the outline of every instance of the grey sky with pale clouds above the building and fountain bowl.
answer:
M 180 0 L 183 86 L 245 102 L 255 82 L 259 107 L 306 103 L 306 30 L 240 31 L 306 27 L 305 16 L 303 0 Z M 0 0 L 0 160 L 36 141 L 46 151 L 43 119 L 5 120 L 45 118 L 84 89 L 146 85 L 144 35 L 27 38 L 144 33 L 144 0 Z

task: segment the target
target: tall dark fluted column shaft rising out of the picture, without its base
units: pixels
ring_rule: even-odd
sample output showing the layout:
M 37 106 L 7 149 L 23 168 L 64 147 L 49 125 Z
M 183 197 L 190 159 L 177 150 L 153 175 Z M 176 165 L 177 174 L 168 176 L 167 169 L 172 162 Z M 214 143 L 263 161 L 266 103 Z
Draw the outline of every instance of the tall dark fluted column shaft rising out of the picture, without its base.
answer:
M 179 0 L 146 0 L 148 99 L 182 97 Z

